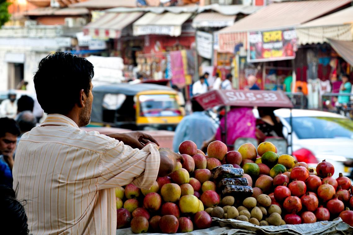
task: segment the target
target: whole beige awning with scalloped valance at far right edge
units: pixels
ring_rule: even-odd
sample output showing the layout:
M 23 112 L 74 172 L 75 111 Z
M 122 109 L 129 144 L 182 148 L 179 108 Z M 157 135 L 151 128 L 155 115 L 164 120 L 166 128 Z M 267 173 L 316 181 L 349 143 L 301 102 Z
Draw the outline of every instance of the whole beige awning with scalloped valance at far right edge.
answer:
M 302 24 L 297 28 L 298 44 L 327 42 L 327 38 L 353 41 L 353 6 Z

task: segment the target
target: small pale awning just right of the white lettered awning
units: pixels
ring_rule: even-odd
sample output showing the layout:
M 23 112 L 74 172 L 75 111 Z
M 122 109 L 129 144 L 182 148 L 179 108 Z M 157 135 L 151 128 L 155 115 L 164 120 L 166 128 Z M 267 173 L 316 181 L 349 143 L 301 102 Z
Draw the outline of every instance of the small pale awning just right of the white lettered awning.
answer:
M 231 26 L 234 24 L 235 17 L 235 15 L 226 16 L 217 12 L 203 12 L 192 20 L 192 26 L 194 28 Z

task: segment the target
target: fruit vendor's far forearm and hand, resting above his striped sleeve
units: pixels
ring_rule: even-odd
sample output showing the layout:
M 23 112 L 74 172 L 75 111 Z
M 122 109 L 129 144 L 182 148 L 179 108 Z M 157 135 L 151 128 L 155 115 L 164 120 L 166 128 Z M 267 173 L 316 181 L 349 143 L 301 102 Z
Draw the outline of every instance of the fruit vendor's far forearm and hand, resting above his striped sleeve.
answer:
M 155 143 L 157 146 L 159 146 L 158 142 L 148 134 L 145 134 L 140 131 L 133 131 L 133 132 L 127 132 L 127 133 L 114 133 L 114 134 L 109 134 L 107 135 L 110 138 L 114 138 L 116 140 L 124 142 L 124 144 L 132 147 L 132 148 L 138 148 L 142 149 L 147 143 Z

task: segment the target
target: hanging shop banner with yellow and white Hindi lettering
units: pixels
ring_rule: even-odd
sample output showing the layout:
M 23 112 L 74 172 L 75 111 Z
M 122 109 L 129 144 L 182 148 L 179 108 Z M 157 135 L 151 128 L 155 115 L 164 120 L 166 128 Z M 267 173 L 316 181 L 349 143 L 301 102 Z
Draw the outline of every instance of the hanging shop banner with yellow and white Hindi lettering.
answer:
M 249 32 L 248 62 L 291 60 L 295 58 L 295 29 Z

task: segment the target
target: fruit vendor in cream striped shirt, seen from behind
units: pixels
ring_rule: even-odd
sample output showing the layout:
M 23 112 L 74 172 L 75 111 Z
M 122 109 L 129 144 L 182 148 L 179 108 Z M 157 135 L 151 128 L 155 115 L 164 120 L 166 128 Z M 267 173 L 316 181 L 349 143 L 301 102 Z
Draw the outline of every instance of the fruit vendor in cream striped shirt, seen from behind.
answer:
M 133 183 L 149 189 L 157 175 L 168 175 L 177 160 L 183 162 L 142 132 L 80 130 L 90 123 L 93 76 L 88 60 L 65 52 L 43 58 L 34 75 L 38 102 L 48 116 L 22 136 L 13 167 L 14 188 L 28 200 L 32 234 L 113 235 L 114 188 Z

